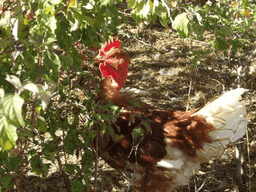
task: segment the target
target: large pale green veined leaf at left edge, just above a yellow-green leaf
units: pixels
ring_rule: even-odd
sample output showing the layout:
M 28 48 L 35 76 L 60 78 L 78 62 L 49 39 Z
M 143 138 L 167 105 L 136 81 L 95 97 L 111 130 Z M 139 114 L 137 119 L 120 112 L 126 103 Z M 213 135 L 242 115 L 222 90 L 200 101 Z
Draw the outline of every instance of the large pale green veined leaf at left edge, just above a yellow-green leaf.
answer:
M 1 101 L 2 115 L 8 119 L 8 123 L 11 123 L 17 127 L 25 126 L 25 122 L 22 117 L 22 105 L 24 99 L 19 95 L 9 95 Z

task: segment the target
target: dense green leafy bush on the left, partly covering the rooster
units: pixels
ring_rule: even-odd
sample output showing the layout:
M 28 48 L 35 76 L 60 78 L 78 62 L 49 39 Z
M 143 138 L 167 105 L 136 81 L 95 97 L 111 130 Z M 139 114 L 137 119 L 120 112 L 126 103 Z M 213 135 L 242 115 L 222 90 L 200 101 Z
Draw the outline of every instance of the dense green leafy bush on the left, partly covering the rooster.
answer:
M 84 100 L 88 113 L 83 129 L 79 125 L 79 112 L 70 105 L 70 116 L 51 101 L 52 94 L 60 95 L 61 102 L 69 102 L 70 88 L 62 75 L 68 71 L 82 71 L 83 57 L 77 45 L 99 47 L 118 29 L 124 16 L 118 12 L 114 1 L 61 1 L 22 0 L 1 1 L 0 4 L 0 168 L 5 173 L 17 174 L 31 165 L 35 174 L 46 177 L 49 166 L 43 159 L 54 161 L 59 155 L 59 142 L 66 153 L 74 154 L 81 146 L 88 147 L 95 133 L 86 131 L 95 121 L 112 118 L 95 112 L 92 100 Z M 8 75 L 12 74 L 12 75 Z M 7 81 L 6 81 L 7 80 Z M 8 83 L 9 81 L 9 83 Z M 21 82 L 24 82 L 23 84 Z M 47 105 L 49 106 L 47 107 Z M 98 106 L 99 107 L 99 106 Z M 94 112 L 92 112 L 94 111 Z M 102 123 L 103 124 L 103 123 Z M 106 126 L 105 126 L 106 127 Z M 65 132 L 56 136 L 56 131 Z M 46 141 L 43 134 L 50 133 Z M 40 146 L 43 154 L 28 146 Z M 18 144 L 18 145 L 17 145 Z M 17 150 L 16 150 L 17 149 Z M 6 152 L 9 150 L 9 152 Z M 11 155 L 13 153 L 13 155 Z M 9 157 L 2 158 L 4 155 Z M 17 159 L 17 170 L 8 162 Z M 79 173 L 72 189 L 79 189 L 82 180 L 87 181 L 92 166 L 92 152 L 86 148 L 80 161 L 82 167 L 66 165 L 68 173 Z M 15 169 L 15 170 L 14 170 Z M 19 180 L 22 183 L 22 175 Z M 13 186 L 10 174 L 0 179 L 3 190 Z M 21 186 L 21 185 L 20 185 Z M 18 186 L 16 186 L 18 187 Z M 22 190 L 22 189 L 20 189 Z

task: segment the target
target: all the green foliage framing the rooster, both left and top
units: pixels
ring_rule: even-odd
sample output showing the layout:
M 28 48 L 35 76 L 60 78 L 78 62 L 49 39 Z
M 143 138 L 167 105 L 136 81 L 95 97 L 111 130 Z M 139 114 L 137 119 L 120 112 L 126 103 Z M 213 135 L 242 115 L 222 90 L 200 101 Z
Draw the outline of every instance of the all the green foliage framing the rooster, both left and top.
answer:
M 121 23 L 127 21 L 117 6 L 121 3 L 0 1 L 1 190 L 8 191 L 16 185 L 22 191 L 25 169 L 46 177 L 49 165 L 45 159 L 57 159 L 63 175 L 72 176 L 72 181 L 66 183 L 68 189 L 90 190 L 96 156 L 90 145 L 98 134 L 113 134 L 108 125 L 115 121 L 120 109 L 111 103 L 95 103 L 97 92 L 91 91 L 91 85 L 95 91 L 96 77 L 83 71 L 83 63 L 92 63 L 95 55 L 85 57 L 78 48 L 89 52 L 118 33 Z M 172 24 L 173 31 L 183 38 L 201 40 L 205 32 L 212 33 L 214 38 L 209 43 L 216 52 L 231 48 L 235 54 L 256 35 L 256 5 L 249 0 L 201 7 L 181 2 L 171 7 L 165 0 L 129 0 L 127 10 L 137 24 Z M 191 51 L 191 68 L 209 53 L 209 48 L 200 53 Z M 75 83 L 72 79 L 76 78 Z M 86 94 L 78 94 L 77 90 Z M 49 138 L 45 137 L 47 134 Z M 141 134 L 140 129 L 135 129 L 135 136 Z M 79 165 L 61 163 L 60 152 L 77 156 Z M 17 175 L 19 180 L 15 182 Z

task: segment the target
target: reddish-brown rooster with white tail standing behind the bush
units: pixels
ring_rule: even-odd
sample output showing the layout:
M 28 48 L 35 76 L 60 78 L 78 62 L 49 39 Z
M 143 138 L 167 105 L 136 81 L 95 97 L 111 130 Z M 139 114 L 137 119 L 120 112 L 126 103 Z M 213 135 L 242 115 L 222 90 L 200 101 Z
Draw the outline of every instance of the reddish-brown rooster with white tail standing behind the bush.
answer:
M 136 191 L 172 192 L 187 185 L 201 163 L 219 157 L 225 145 L 244 136 L 246 111 L 240 99 L 245 89 L 228 91 L 200 110 L 155 109 L 120 93 L 130 58 L 118 39 L 109 41 L 99 55 L 105 78 L 100 99 L 123 110 L 111 124 L 119 137 L 105 133 L 98 151 L 108 164 L 126 174 Z M 135 137 L 138 127 L 143 134 Z

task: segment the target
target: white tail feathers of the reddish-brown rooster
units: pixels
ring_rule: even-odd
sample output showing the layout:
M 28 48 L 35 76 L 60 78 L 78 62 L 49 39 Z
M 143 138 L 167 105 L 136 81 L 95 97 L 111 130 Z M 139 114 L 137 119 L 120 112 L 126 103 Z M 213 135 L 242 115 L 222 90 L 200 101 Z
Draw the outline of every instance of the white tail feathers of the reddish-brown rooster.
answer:
M 215 128 L 208 133 L 212 142 L 204 144 L 205 153 L 198 151 L 199 158 L 209 160 L 217 157 L 224 151 L 223 146 L 244 136 L 247 127 L 246 110 L 240 100 L 245 91 L 243 88 L 228 91 L 193 114 L 204 117 Z

